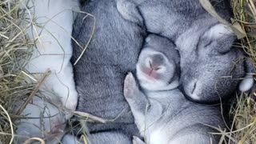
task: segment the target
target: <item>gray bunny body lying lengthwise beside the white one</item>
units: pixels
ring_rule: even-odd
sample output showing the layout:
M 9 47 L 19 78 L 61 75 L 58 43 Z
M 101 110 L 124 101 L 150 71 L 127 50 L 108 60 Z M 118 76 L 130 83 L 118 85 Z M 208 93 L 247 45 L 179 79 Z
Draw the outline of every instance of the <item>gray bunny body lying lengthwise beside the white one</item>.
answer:
M 114 122 L 87 122 L 92 143 L 131 143 L 131 136 L 138 134 L 125 98 L 123 80 L 129 71 L 135 71 L 146 30 L 137 23 L 127 21 L 118 13 L 114 0 L 85 2 L 74 22 L 73 37 L 83 47 L 93 38 L 85 54 L 74 66 L 74 80 L 78 90 L 78 111 L 94 114 Z M 73 42 L 74 63 L 82 49 Z

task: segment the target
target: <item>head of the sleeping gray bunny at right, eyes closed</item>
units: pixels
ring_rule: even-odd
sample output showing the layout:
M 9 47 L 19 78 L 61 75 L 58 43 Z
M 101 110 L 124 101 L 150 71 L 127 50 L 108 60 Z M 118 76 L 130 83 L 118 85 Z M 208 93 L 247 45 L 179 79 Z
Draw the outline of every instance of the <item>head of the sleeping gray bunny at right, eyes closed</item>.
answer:
M 246 69 L 245 56 L 233 46 L 235 37 L 230 34 L 226 26 L 218 24 L 194 45 L 180 47 L 181 87 L 187 98 L 219 102 L 234 93 Z

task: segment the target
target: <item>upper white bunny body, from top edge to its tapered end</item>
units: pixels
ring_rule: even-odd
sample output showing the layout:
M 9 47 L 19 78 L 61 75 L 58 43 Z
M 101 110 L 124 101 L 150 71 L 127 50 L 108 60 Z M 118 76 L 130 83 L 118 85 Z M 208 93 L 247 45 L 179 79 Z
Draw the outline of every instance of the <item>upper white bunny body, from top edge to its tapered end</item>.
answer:
M 34 0 L 29 6 L 34 6 L 34 11 L 30 14 L 34 13 L 32 17 L 38 18 L 36 22 L 43 25 L 47 23 L 43 29 L 31 26 L 31 29 L 27 30 L 31 39 L 39 38 L 36 43 L 37 49 L 26 65 L 26 70 L 30 73 L 43 73 L 50 69 L 52 74 L 46 79 L 42 89 L 53 91 L 61 97 L 62 104 L 66 108 L 74 110 L 78 95 L 74 88 L 73 70 L 70 64 L 72 55 L 70 42 L 74 22 L 71 8 L 78 9 L 78 0 Z M 40 32 L 42 34 L 39 35 Z

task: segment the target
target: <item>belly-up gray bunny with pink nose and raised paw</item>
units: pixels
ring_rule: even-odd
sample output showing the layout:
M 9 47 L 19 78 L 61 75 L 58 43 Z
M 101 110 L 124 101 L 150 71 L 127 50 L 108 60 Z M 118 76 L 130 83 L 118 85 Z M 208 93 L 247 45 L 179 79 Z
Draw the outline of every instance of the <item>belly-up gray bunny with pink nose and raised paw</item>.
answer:
M 149 41 L 146 45 L 137 64 L 138 82 L 145 93 L 139 90 L 133 74 L 127 74 L 124 82 L 124 96 L 145 142 L 217 144 L 219 138 L 209 133 L 214 132 L 210 126 L 224 127 L 218 106 L 190 102 L 177 86 L 174 86 L 172 82 L 176 82 L 177 78 L 174 78 L 174 81 L 172 78 L 177 77 L 174 72 L 177 73 L 175 69 L 178 67 L 175 65 L 178 65 L 176 58 L 179 57 L 171 42 L 167 42 L 166 38 L 154 36 L 154 41 Z M 166 49 L 162 49 L 163 47 Z M 169 50 L 170 52 L 167 52 Z M 167 53 L 170 54 L 168 57 Z M 146 66 L 146 63 L 149 64 Z M 145 69 L 150 69 L 150 73 Z M 137 137 L 134 137 L 133 141 L 134 144 L 144 143 Z

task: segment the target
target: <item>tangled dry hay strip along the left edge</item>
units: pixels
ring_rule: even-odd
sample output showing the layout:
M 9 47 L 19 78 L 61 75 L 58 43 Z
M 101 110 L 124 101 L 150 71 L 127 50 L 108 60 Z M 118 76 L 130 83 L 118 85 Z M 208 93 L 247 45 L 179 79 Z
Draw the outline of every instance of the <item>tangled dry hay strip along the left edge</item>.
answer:
M 12 141 L 15 127 L 12 122 L 17 118 L 14 104 L 34 89 L 34 84 L 26 83 L 22 73 L 32 45 L 26 39 L 25 30 L 19 27 L 25 21 L 19 4 L 14 0 L 0 0 L 0 143 Z

